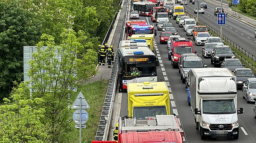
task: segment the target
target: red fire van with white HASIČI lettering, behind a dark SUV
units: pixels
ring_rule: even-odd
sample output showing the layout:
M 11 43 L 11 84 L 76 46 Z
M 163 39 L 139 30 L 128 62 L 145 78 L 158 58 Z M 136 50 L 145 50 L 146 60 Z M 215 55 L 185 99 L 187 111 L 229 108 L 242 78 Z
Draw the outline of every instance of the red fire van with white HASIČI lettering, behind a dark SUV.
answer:
M 178 67 L 180 55 L 183 53 L 194 53 L 191 38 L 173 38 L 171 41 L 171 65 Z

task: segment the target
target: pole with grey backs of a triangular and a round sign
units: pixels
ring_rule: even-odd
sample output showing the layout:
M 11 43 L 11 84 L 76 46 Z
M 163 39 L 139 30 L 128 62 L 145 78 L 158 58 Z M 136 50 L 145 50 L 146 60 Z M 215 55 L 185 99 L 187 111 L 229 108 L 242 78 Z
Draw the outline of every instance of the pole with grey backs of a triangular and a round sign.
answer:
M 84 109 L 90 109 L 90 106 L 81 91 L 71 108 L 77 109 L 73 113 L 73 120 L 76 124 L 79 124 L 79 127 L 75 125 L 75 128 L 79 128 L 79 143 L 82 143 L 82 128 L 86 128 L 86 125 L 83 124 L 85 124 L 89 118 L 89 114 Z

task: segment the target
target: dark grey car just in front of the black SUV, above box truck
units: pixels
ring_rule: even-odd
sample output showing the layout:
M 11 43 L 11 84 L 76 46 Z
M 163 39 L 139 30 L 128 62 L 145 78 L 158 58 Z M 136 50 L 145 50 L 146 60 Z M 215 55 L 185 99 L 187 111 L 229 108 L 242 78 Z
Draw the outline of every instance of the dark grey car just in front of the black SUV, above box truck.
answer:
M 224 59 L 221 63 L 221 67 L 229 68 L 231 71 L 234 71 L 236 68 L 243 68 L 243 64 L 239 59 Z

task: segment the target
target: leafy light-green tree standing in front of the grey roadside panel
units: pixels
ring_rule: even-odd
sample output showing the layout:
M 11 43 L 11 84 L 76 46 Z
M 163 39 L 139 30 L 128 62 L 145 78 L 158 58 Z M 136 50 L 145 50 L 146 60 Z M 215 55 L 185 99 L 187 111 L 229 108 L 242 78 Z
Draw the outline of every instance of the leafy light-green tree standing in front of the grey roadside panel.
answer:
M 41 36 L 42 41 L 37 44 L 37 52 L 33 53 L 28 74 L 34 83 L 32 97 L 45 101 L 41 105 L 46 109 L 43 124 L 48 141 L 52 143 L 65 143 L 65 135 L 73 130 L 68 97 L 74 94 L 74 88 L 80 87 L 95 73 L 97 63 L 97 53 L 85 50 L 80 43 L 86 41 L 84 32 L 63 31 L 59 46 L 53 36 Z

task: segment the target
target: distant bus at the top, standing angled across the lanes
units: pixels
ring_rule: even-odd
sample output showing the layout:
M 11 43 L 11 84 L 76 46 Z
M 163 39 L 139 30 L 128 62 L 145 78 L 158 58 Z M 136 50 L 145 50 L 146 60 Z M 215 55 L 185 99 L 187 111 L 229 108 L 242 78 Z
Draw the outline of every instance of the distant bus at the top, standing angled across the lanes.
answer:
M 153 14 L 151 9 L 154 8 L 156 4 L 157 3 L 154 2 L 134 2 L 133 10 L 138 11 L 139 15 L 151 16 Z

